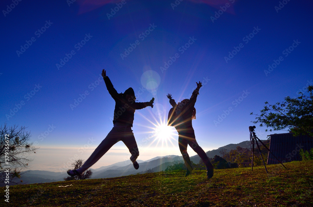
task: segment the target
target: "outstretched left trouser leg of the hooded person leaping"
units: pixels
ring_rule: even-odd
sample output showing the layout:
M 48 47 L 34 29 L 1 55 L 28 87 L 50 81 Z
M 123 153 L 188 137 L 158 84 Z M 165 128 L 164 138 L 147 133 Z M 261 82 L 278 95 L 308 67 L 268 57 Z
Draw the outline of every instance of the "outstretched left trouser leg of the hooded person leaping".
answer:
M 85 161 L 85 163 L 78 169 L 78 172 L 83 173 L 85 170 L 95 164 L 119 139 L 120 133 L 114 129 L 109 132 L 105 139 L 99 144 L 95 151 Z

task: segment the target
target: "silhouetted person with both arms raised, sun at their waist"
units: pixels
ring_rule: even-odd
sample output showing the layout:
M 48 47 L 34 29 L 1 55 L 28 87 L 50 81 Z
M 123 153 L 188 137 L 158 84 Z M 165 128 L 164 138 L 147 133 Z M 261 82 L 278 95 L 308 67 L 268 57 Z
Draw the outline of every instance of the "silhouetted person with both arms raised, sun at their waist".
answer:
M 194 108 L 194 105 L 199 94 L 198 91 L 201 87 L 202 84 L 199 81 L 199 83 L 197 83 L 197 88 L 192 93 L 191 98 L 184 99 L 182 102 L 178 102 L 178 104 L 176 104 L 175 100 L 172 99 L 171 94 L 167 95 L 167 98 L 170 99 L 170 104 L 173 107 L 168 113 L 167 125 L 175 127 L 178 132 L 179 149 L 187 167 L 186 176 L 189 175 L 193 170 L 189 155 L 187 153 L 187 146 L 189 144 L 189 146 L 200 156 L 206 165 L 207 177 L 209 179 L 213 177 L 213 166 L 210 163 L 208 156 L 198 145 L 192 127 L 192 119 L 196 119 L 196 109 Z

